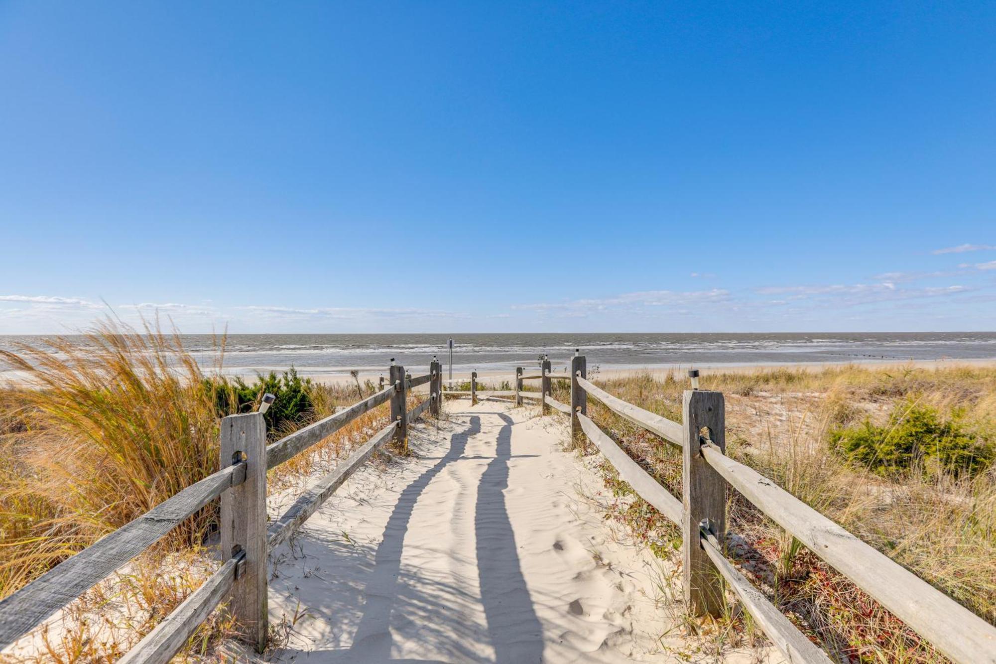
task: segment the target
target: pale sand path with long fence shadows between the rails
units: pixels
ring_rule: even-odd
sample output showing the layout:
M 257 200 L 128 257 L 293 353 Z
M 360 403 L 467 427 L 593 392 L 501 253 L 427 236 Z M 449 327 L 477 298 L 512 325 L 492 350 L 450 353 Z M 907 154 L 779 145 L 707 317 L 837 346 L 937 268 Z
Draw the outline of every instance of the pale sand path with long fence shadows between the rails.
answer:
M 561 451 L 566 418 L 446 411 L 412 427 L 413 459 L 363 469 L 274 552 L 277 661 L 687 661 L 668 570 L 581 498 L 601 483 Z

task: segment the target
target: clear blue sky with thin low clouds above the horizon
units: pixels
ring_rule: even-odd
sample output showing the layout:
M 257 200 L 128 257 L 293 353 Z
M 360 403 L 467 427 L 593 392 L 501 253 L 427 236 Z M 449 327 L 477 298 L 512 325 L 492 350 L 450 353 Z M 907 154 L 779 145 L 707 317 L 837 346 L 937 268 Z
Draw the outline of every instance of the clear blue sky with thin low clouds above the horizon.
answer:
M 0 1 L 0 333 L 996 329 L 994 3 Z

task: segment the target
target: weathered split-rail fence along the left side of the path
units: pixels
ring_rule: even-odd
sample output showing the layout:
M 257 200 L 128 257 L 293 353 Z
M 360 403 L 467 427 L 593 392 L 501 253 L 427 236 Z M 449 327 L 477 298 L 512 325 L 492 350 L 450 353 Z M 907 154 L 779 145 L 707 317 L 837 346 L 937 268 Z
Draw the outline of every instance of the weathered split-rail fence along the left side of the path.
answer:
M 128 664 L 168 662 L 210 612 L 227 602 L 258 651 L 266 645 L 267 569 L 270 550 L 284 541 L 387 441 L 406 445 L 408 423 L 426 409 L 439 413 L 439 362 L 412 378 L 390 367 L 390 385 L 349 408 L 266 445 L 261 413 L 221 421 L 221 470 L 160 502 L 123 527 L 67 558 L 0 601 L 0 648 L 18 640 L 67 604 L 110 576 L 214 498 L 221 498 L 224 562 L 137 645 L 119 660 Z M 405 412 L 408 392 L 429 384 L 428 398 Z M 267 526 L 266 472 L 326 440 L 364 413 L 390 403 L 390 422 L 322 478 Z

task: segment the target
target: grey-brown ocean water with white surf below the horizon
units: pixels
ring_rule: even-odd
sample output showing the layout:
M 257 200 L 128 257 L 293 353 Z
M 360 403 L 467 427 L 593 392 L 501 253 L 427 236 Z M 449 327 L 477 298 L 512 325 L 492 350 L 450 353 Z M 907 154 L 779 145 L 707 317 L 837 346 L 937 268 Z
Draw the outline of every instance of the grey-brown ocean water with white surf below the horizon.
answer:
M 296 367 L 303 375 L 386 371 L 391 358 L 415 369 L 433 355 L 448 364 L 444 334 L 234 334 L 224 349 L 226 372 L 251 374 Z M 996 358 L 996 332 L 716 333 L 716 334 L 461 334 L 453 335 L 453 370 L 514 371 L 549 354 L 555 369 L 575 349 L 589 366 L 640 369 L 674 366 L 781 365 L 823 362 L 903 362 Z M 210 335 L 184 335 L 205 367 L 216 364 Z M 44 343 L 40 336 L 0 336 L 0 348 Z

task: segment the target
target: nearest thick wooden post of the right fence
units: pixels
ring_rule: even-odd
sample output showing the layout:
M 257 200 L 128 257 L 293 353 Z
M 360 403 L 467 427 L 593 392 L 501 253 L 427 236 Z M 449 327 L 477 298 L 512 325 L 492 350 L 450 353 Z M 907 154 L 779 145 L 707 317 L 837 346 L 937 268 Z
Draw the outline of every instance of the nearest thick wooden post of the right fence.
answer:
M 722 578 L 700 542 L 700 528 L 719 541 L 726 534 L 726 481 L 702 456 L 711 441 L 726 453 L 726 414 L 722 392 L 686 390 L 682 406 L 684 445 L 681 469 L 681 537 L 684 551 L 684 596 L 692 615 L 723 612 Z

